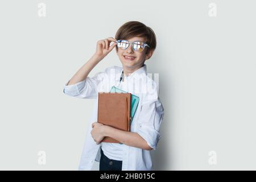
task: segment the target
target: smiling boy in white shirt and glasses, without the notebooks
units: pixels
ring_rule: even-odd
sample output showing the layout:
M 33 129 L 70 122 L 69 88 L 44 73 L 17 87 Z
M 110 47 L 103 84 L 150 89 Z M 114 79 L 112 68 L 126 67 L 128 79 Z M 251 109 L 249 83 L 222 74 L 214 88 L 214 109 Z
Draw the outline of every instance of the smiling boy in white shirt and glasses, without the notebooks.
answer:
M 88 77 L 114 47 L 122 67 L 110 67 Z M 90 170 L 94 160 L 100 160 L 100 170 L 152 170 L 150 150 L 156 149 L 160 139 L 164 109 L 156 83 L 147 76 L 144 61 L 150 59 L 155 48 L 156 37 L 150 27 L 137 21 L 127 22 L 118 29 L 115 38 L 99 40 L 94 55 L 65 84 L 63 92 L 69 96 L 96 98 L 80 170 Z M 98 92 L 109 92 L 112 86 L 139 97 L 130 132 L 97 122 Z M 101 143 L 106 136 L 122 144 Z

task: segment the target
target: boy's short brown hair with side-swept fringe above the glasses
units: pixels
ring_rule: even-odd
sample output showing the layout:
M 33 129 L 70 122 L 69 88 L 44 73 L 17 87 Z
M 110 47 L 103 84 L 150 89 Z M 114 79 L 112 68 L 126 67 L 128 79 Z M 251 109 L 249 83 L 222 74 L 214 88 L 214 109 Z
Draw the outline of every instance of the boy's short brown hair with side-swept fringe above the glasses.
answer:
M 123 24 L 115 34 L 115 39 L 130 39 L 135 36 L 140 36 L 146 39 L 146 43 L 150 46 L 149 49 L 147 49 L 146 54 L 150 49 L 155 50 L 156 48 L 156 36 L 154 31 L 147 27 L 145 24 L 137 21 L 130 21 Z M 118 47 L 116 46 L 115 49 L 118 51 Z

